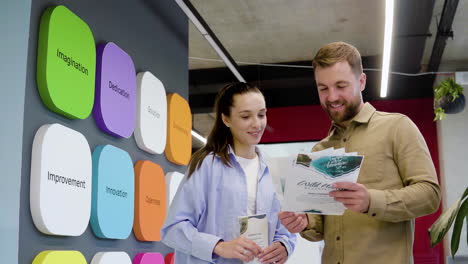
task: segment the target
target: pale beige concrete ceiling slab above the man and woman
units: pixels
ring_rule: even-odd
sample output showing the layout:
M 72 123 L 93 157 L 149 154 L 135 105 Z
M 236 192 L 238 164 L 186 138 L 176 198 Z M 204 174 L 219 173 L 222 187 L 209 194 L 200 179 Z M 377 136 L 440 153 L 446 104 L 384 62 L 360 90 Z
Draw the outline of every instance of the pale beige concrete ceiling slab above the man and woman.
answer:
M 343 40 L 363 55 L 383 45 L 384 1 L 192 0 L 191 3 L 236 61 L 278 63 L 311 60 L 324 43 Z M 190 25 L 190 57 L 217 59 Z M 190 69 L 224 67 L 190 59 Z

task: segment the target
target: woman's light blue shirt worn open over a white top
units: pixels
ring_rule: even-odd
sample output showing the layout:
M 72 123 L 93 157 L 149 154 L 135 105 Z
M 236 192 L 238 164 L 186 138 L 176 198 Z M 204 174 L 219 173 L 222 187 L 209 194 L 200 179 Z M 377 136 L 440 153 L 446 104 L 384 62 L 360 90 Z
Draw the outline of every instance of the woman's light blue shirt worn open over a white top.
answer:
M 261 153 L 257 187 L 257 214 L 268 218 L 268 240 L 282 242 L 292 254 L 296 236 L 278 219 L 280 204 Z M 213 158 L 214 157 L 214 158 Z M 247 215 L 247 179 L 231 148 L 232 167 L 210 154 L 187 179 L 185 175 L 169 208 L 162 228 L 162 242 L 175 249 L 175 263 L 242 263 L 213 253 L 220 240 L 240 236 L 239 216 Z

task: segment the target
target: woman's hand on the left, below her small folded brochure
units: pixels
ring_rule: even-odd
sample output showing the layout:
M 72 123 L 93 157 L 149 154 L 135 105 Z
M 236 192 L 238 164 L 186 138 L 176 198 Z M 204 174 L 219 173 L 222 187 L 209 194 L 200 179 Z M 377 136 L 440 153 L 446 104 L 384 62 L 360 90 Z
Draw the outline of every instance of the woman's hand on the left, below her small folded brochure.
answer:
M 240 259 L 244 262 L 252 261 L 262 249 L 252 240 L 238 237 L 231 241 L 220 241 L 214 248 L 214 253 L 223 258 Z

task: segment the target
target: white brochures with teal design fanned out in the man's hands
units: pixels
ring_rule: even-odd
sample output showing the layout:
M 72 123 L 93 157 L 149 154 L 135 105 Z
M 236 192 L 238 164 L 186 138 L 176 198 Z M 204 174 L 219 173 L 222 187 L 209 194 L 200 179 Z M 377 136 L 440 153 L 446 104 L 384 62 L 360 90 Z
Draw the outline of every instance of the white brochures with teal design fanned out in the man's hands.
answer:
M 328 194 L 335 182 L 357 182 L 363 160 L 344 149 L 297 154 L 287 168 L 283 210 L 342 215 L 346 208 Z

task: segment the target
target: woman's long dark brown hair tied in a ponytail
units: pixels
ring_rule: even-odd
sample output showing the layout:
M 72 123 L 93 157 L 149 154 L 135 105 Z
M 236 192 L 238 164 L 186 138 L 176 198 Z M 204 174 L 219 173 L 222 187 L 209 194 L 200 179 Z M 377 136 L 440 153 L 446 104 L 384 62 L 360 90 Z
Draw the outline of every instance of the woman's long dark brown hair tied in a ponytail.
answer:
M 222 115 L 231 116 L 231 107 L 234 104 L 235 95 L 249 92 L 262 94 L 257 86 L 244 82 L 230 83 L 218 92 L 214 105 L 214 112 L 216 113 L 215 123 L 208 136 L 206 145 L 197 150 L 190 159 L 188 178 L 190 178 L 195 170 L 200 168 L 203 160 L 210 153 L 219 156 L 226 166 L 232 166 L 228 146 L 232 145 L 233 139 L 231 130 L 223 123 Z

